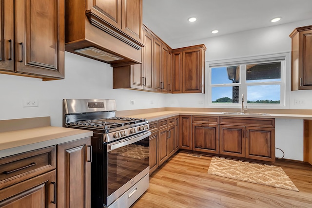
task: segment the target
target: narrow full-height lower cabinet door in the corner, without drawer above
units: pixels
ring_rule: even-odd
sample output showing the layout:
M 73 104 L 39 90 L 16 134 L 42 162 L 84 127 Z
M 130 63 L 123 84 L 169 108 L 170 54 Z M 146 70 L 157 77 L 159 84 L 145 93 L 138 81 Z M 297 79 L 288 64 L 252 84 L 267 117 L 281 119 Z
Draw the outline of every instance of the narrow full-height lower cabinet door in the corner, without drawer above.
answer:
M 180 149 L 192 150 L 192 119 L 191 115 L 179 117 L 179 143 Z

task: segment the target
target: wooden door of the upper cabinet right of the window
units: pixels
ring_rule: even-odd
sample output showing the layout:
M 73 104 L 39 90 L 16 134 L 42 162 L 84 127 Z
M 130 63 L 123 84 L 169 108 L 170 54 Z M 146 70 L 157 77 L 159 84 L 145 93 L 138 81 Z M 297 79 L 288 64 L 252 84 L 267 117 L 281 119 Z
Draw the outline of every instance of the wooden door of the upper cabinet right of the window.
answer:
M 312 29 L 299 32 L 299 90 L 312 89 Z

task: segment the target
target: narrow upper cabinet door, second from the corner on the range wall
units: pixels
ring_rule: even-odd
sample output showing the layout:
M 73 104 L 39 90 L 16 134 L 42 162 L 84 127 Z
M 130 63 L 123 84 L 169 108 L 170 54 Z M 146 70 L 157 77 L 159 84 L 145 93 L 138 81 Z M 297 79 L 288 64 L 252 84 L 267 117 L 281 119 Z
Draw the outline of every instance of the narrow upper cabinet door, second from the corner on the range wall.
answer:
M 154 38 L 154 91 L 161 92 L 162 78 L 161 78 L 161 42 Z

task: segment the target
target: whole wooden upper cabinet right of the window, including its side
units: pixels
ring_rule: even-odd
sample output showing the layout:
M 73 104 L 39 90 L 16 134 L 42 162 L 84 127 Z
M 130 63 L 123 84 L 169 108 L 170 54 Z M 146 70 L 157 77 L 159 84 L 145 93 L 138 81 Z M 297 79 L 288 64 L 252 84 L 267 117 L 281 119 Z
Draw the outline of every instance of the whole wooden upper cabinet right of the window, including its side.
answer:
M 292 38 L 292 91 L 312 90 L 312 25 L 296 28 Z

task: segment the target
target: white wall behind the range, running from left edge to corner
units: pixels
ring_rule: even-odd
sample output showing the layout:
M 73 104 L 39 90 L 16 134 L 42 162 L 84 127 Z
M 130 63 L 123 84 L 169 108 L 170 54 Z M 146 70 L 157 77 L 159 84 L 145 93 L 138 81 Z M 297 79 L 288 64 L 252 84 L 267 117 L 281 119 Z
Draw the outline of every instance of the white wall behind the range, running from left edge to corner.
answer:
M 0 74 L 0 120 L 51 116 L 52 126 L 62 126 L 62 99 L 116 99 L 117 110 L 164 107 L 164 95 L 112 89 L 113 69 L 109 64 L 65 53 L 65 79 Z M 23 99 L 38 99 L 38 107 L 23 108 Z M 131 105 L 130 100 L 135 100 Z M 153 101 L 153 104 L 151 104 Z

